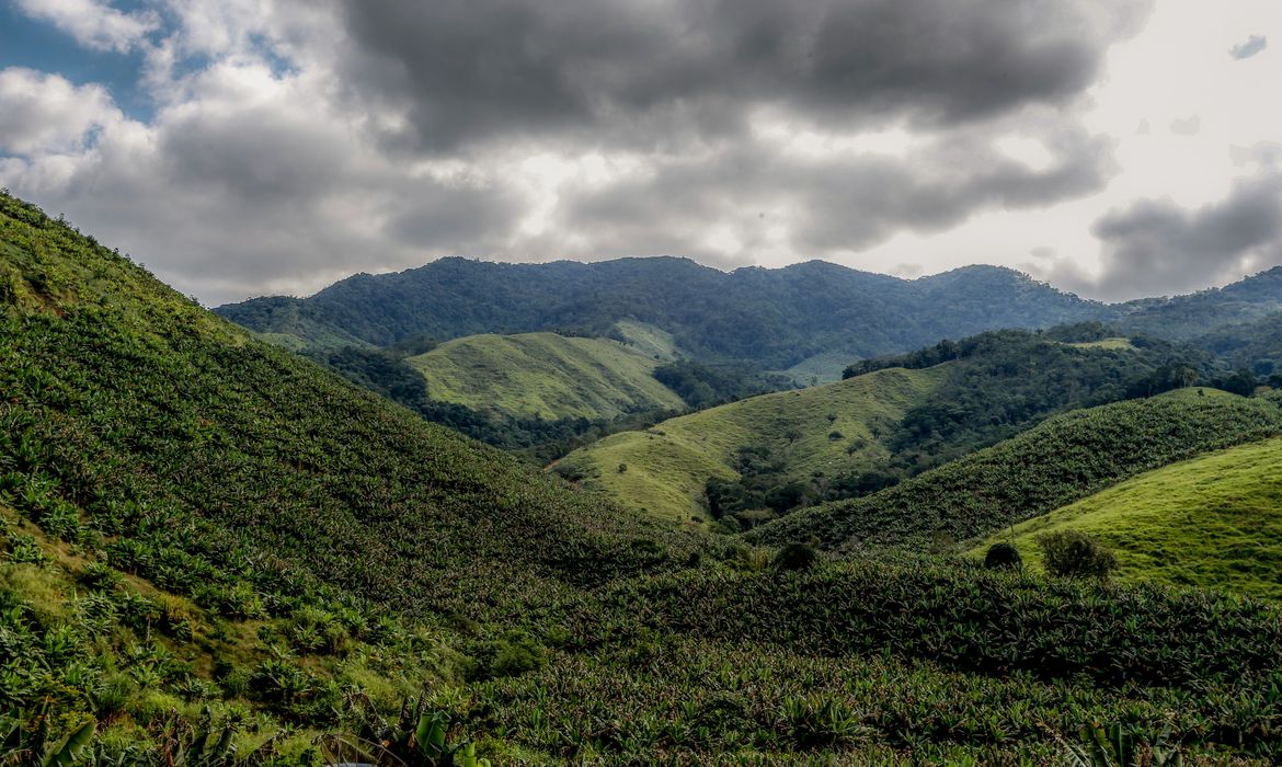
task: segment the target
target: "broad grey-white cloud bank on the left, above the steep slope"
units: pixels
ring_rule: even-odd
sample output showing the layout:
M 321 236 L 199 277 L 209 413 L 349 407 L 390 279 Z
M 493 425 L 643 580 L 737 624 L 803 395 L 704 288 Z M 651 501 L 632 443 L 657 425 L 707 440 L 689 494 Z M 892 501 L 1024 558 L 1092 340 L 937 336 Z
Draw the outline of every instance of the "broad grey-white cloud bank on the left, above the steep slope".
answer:
M 78 154 L 0 160 L 0 183 L 214 303 L 487 248 L 513 226 L 504 190 L 408 173 L 318 108 L 305 78 L 223 63 L 188 88 L 153 124 L 119 119 Z M 58 92 L 37 92 L 33 112 L 58 108 Z

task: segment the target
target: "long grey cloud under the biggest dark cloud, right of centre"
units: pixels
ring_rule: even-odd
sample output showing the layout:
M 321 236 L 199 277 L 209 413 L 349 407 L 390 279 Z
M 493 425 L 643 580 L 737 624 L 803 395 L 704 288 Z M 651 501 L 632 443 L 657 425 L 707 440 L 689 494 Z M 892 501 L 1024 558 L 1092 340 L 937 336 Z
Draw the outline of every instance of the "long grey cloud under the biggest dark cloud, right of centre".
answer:
M 587 232 L 604 251 L 650 242 L 656 221 L 664 236 L 682 232 L 688 240 L 709 222 L 732 222 L 746 253 L 776 226 L 787 230 L 799 257 L 860 250 L 900 230 L 944 230 L 982 209 L 1082 195 L 1113 171 L 1100 140 L 1065 131 L 1049 148 L 1051 164 L 1033 169 L 964 132 L 904 158 L 799 156 L 741 142 L 713 158 L 658 163 L 637 178 L 583 190 L 565 201 L 559 228 Z

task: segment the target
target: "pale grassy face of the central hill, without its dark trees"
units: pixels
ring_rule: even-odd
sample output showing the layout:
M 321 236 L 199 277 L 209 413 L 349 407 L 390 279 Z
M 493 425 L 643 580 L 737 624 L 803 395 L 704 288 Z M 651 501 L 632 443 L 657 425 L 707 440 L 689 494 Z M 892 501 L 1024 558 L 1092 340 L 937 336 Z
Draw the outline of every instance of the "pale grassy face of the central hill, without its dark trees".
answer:
M 888 457 L 874 436 L 920 403 L 946 366 L 922 371 L 887 369 L 849 381 L 754 396 L 691 416 L 664 421 L 644 432 L 628 431 L 570 453 L 565 469 L 586 485 L 638 512 L 672 519 L 704 517 L 700 503 L 712 477 L 733 478 L 740 448 L 769 442 L 785 449 L 787 472 L 873 468 Z M 836 416 L 829 421 L 829 416 Z M 833 431 L 841 432 L 832 439 Z M 800 435 L 790 440 L 790 432 Z M 851 445 L 856 445 L 853 453 Z M 620 472 L 619 466 L 627 469 Z

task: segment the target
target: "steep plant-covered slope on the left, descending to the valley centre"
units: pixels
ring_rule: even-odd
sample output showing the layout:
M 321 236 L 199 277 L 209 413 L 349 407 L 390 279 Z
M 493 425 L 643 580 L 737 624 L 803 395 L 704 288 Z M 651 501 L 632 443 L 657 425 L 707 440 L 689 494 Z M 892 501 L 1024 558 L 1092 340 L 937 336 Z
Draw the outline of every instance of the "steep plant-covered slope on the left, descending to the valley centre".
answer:
M 0 391 L 0 663 L 32 726 L 92 711 L 146 738 L 224 695 L 264 726 L 395 714 L 464 673 L 435 626 L 501 637 L 695 546 L 254 341 L 8 195 Z

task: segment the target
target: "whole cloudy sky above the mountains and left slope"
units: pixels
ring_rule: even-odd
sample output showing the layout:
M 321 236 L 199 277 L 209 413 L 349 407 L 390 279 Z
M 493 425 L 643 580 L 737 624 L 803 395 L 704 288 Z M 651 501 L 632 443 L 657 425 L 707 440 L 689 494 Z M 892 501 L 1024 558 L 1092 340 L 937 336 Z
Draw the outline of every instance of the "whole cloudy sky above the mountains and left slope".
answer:
M 445 255 L 1282 264 L 1278 0 L 0 0 L 0 187 L 206 305 Z

